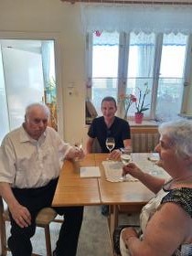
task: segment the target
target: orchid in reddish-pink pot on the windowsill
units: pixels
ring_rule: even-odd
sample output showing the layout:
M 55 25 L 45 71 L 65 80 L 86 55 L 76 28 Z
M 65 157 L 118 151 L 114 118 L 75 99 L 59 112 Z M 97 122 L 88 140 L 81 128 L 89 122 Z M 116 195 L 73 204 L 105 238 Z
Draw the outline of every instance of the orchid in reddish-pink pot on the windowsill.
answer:
M 144 94 L 140 88 L 137 88 L 139 91 L 138 101 L 135 101 L 136 112 L 134 113 L 134 121 L 135 123 L 142 123 L 144 118 L 144 112 L 149 109 L 149 104 L 144 104 L 144 100 L 147 94 L 149 94 L 150 90 L 148 88 L 147 82 L 144 83 Z

